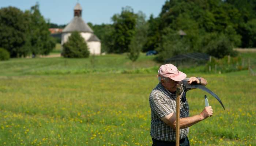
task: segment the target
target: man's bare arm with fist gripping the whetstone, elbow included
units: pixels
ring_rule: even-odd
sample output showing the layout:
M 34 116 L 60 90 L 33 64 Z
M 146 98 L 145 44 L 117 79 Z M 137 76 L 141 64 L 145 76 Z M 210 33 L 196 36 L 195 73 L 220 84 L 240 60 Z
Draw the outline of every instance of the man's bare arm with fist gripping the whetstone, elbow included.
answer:
M 187 117 L 187 118 L 180 118 L 180 128 L 187 128 L 190 127 L 206 118 L 209 116 L 212 116 L 213 111 L 211 106 L 205 107 L 204 110 L 201 112 L 199 115 Z M 171 114 L 165 116 L 164 118 L 161 119 L 163 122 L 165 122 L 167 125 L 172 127 L 173 129 L 176 129 L 176 113 L 172 112 Z

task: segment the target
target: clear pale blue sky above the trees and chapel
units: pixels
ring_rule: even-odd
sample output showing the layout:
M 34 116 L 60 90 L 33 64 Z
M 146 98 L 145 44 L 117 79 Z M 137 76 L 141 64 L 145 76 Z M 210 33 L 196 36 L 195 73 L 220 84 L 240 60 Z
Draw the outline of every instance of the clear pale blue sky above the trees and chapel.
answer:
M 0 8 L 17 7 L 22 11 L 39 3 L 39 9 L 45 19 L 51 23 L 67 24 L 74 17 L 77 2 L 83 8 L 82 18 L 93 24 L 109 24 L 114 14 L 120 14 L 122 7 L 130 6 L 137 13 L 142 11 L 147 18 L 151 14 L 158 16 L 166 0 L 0 0 Z

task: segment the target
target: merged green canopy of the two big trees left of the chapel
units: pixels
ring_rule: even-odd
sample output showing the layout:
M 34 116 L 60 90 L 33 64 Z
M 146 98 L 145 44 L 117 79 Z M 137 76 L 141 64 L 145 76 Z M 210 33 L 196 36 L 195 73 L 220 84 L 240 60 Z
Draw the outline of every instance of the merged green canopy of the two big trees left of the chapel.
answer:
M 25 12 L 15 7 L 1 8 L 0 26 L 0 47 L 7 49 L 11 57 L 45 55 L 55 46 L 38 3 Z

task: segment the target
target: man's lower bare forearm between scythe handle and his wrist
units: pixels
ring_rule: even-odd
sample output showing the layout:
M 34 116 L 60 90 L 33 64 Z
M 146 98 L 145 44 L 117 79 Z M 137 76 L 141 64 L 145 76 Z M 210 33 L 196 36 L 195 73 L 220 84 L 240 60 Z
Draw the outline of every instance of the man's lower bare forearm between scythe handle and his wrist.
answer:
M 193 124 L 196 124 L 200 121 L 202 121 L 204 118 L 203 116 L 199 115 L 195 115 L 195 116 L 191 116 L 191 117 L 187 117 L 187 118 L 181 118 L 180 119 L 180 128 L 187 128 L 192 126 Z M 175 122 L 176 124 L 176 122 Z

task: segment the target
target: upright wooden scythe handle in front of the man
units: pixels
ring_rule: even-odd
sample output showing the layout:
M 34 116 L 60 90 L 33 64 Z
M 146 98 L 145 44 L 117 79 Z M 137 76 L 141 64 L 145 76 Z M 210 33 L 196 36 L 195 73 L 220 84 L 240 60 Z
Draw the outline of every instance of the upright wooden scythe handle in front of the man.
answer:
M 180 87 L 176 92 L 176 146 L 180 146 Z

